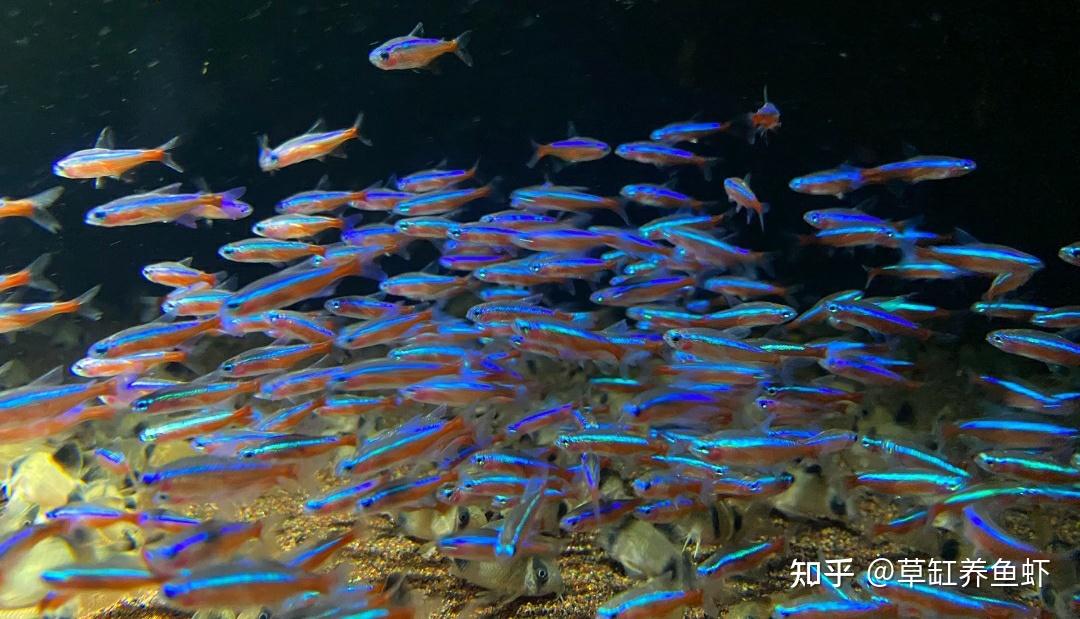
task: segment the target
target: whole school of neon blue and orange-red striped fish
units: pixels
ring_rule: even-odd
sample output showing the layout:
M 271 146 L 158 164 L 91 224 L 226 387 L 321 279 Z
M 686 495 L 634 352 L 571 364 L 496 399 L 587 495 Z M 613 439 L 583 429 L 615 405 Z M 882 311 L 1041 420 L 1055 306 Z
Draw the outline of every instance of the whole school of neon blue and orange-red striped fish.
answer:
M 468 32 L 426 39 L 418 25 L 369 59 L 418 69 L 455 54 L 471 66 L 468 41 Z M 377 148 L 361 133 L 363 120 L 337 130 L 320 121 L 278 146 L 262 136 L 258 166 L 287 174 L 356 143 Z M 481 180 L 498 171 L 477 163 L 366 189 L 334 189 L 324 178 L 272 207 L 241 201 L 243 187 L 185 192 L 179 181 L 87 205 L 85 223 L 97 227 L 257 221 L 249 238 L 220 247 L 220 264 L 177 256 L 146 265 L 143 277 L 167 291 L 159 318 L 0 392 L 0 442 L 25 445 L 6 462 L 0 593 L 17 581 L 31 597 L 21 605 L 43 614 L 78 611 L 91 593 L 152 591 L 161 605 L 192 611 L 427 616 L 436 601 L 410 589 L 407 575 L 354 582 L 348 565 L 325 567 L 364 543 L 372 519 L 389 516 L 456 577 L 487 590 L 484 604 L 497 609 L 563 593 L 558 557 L 571 535 L 584 534 L 638 580 L 584 613 L 715 616 L 733 602 L 731 579 L 791 562 L 791 540 L 770 515 L 779 513 L 872 537 L 944 530 L 972 555 L 1045 557 L 1056 598 L 856 582 L 793 592 L 774 605 L 775 617 L 1077 611 L 1076 548 L 1022 539 L 1001 514 L 1080 509 L 1080 306 L 1020 300 L 1043 268 L 1035 255 L 962 231 L 920 230 L 851 200 L 822 199 L 806 212 L 808 227 L 788 231 L 798 233 L 789 251 L 841 248 L 858 258 L 875 250 L 892 263 L 866 267 L 867 290 L 811 296 L 784 281 L 774 255 L 740 244 L 747 229 L 778 233 L 748 175 L 711 180 L 708 198 L 674 183 L 687 166 L 712 179 L 724 149 L 766 148 L 780 120 L 765 102 L 735 119 L 673 122 L 621 145 L 571 130 L 535 144 L 527 162 L 523 156 L 521 165 L 552 165 L 553 176 L 612 154 L 626 160 L 627 180 L 640 170 L 634 162 L 673 171 L 673 183 L 629 183 L 615 197 L 550 180 L 499 187 Z M 144 164 L 183 172 L 173 159 L 178 138 L 148 149 L 117 149 L 114 139 L 103 131 L 54 173 L 100 187 L 131 180 Z M 968 159 L 914 156 L 808 173 L 789 187 L 862 198 L 975 169 Z M 56 232 L 50 208 L 62 191 L 2 199 L 0 218 Z M 780 210 L 791 202 L 768 198 Z M 382 271 L 387 256 L 408 257 L 420 244 L 437 248 L 435 263 Z M 1057 255 L 1080 267 L 1080 242 Z M 59 314 L 100 318 L 97 286 L 62 294 L 46 277 L 48 255 L 23 258 L 26 268 L 0 275 L 0 331 L 80 320 Z M 266 271 L 238 285 L 230 263 Z M 873 296 L 885 278 L 910 294 Z M 985 354 L 1034 369 L 1021 378 L 962 368 L 981 414 L 870 429 L 868 403 L 895 408 L 956 378 L 924 367 L 922 351 L 955 342 L 950 320 L 961 312 L 918 293 L 926 282 L 961 279 L 985 281 L 968 310 L 995 321 L 978 323 Z M 377 292 L 335 294 L 340 282 L 361 280 Z M 586 288 L 588 299 L 576 293 Z M 70 474 L 57 476 L 59 468 Z M 40 479 L 68 481 L 41 488 Z M 278 488 L 308 513 L 354 524 L 279 552 L 264 542 L 272 519 L 238 516 Z M 824 509 L 807 508 L 808 493 Z M 867 496 L 900 516 L 863 517 Z M 212 516 L 190 515 L 207 504 Z

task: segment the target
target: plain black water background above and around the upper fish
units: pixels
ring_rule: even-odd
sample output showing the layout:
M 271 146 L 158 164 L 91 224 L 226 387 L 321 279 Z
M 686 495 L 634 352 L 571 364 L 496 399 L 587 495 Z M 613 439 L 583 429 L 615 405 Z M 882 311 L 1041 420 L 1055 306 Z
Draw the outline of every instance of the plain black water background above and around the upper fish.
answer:
M 21 197 L 62 183 L 67 193 L 55 207 L 58 236 L 0 223 L 0 266 L 57 251 L 55 279 L 65 291 L 103 282 L 113 309 L 162 293 L 138 275 L 157 260 L 193 254 L 198 266 L 228 266 L 245 281 L 269 272 L 230 266 L 216 248 L 251 236 L 278 199 L 310 189 L 324 173 L 336 187 L 360 188 L 443 158 L 468 166 L 480 157 L 482 175 L 498 175 L 509 191 L 542 180 L 524 166 L 529 138 L 563 137 L 567 121 L 612 144 L 640 139 L 696 113 L 723 120 L 752 111 L 766 84 L 783 112 L 781 131 L 768 145 L 729 137 L 701 145 L 725 158 L 718 178 L 704 183 L 687 170 L 678 186 L 723 198 L 724 176 L 752 172 L 772 203 L 769 230 L 747 230 L 739 242 L 784 250 L 779 279 L 828 292 L 859 286 L 863 277 L 856 261 L 791 250 L 791 234 L 808 231 L 804 211 L 841 205 L 791 192 L 791 177 L 914 149 L 969 157 L 978 170 L 902 193 L 864 190 L 848 204 L 874 197 L 869 207 L 883 215 L 921 214 L 931 229 L 961 226 L 1038 255 L 1048 268 L 1023 296 L 1063 304 L 1076 287 L 1075 271 L 1055 253 L 1080 239 L 1077 3 L 36 0 L 9 1 L 2 11 L 0 192 Z M 453 56 L 436 62 L 437 73 L 380 71 L 367 62 L 375 44 L 418 21 L 434 37 L 472 29 L 475 67 Z M 353 143 L 347 160 L 258 171 L 257 134 L 279 144 L 321 116 L 346 126 L 359 110 L 374 147 Z M 140 169 L 135 185 L 110 181 L 97 191 L 52 177 L 53 161 L 90 147 L 105 125 L 119 147 L 183 135 L 176 159 L 185 179 L 247 186 L 256 216 L 199 230 L 85 226 L 90 207 L 177 179 L 156 164 Z M 666 177 L 611 157 L 555 179 L 613 193 L 623 183 Z M 863 257 L 889 259 L 895 255 Z M 987 282 L 963 285 L 978 291 Z

